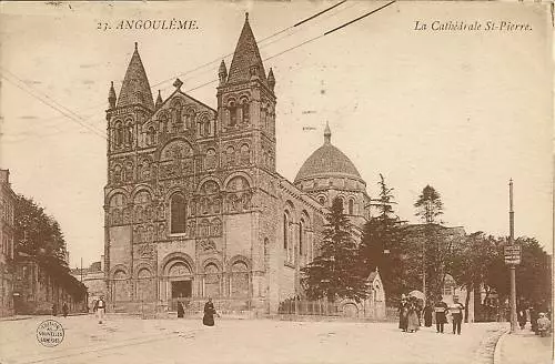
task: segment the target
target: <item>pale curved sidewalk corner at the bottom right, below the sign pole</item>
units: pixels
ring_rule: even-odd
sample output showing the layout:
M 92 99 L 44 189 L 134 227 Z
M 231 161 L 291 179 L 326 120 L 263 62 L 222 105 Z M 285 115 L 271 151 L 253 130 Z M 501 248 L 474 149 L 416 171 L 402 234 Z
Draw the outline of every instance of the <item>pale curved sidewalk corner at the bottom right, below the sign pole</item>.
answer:
M 495 350 L 494 364 L 551 364 L 553 336 L 534 335 L 529 327 L 501 337 Z

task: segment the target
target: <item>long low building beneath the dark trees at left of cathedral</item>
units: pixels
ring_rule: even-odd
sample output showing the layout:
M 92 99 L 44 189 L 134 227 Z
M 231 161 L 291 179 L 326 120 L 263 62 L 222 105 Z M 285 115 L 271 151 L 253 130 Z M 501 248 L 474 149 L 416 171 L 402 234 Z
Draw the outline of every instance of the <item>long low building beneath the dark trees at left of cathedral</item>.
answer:
M 70 313 L 87 311 L 87 287 L 63 266 L 21 252 L 16 266 L 16 314 L 52 314 L 54 311 L 60 314 L 63 303 L 68 304 Z

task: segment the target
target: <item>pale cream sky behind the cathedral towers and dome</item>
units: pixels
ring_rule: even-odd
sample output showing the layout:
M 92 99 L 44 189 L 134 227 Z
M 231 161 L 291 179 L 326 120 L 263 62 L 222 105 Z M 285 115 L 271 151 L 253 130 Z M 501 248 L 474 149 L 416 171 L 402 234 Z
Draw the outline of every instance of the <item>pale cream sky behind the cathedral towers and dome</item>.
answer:
M 179 77 L 183 91 L 215 107 L 216 83 L 209 82 L 221 59 L 229 67 L 248 11 L 276 79 L 283 176 L 295 178 L 329 122 L 332 143 L 354 162 L 370 195 L 380 173 L 394 188 L 403 220 L 418 222 L 413 204 L 430 184 L 442 195 L 446 225 L 507 235 L 512 178 L 515 235 L 534 236 L 551 253 L 547 4 L 395 2 L 322 37 L 385 4 L 347 1 L 293 27 L 333 3 L 2 2 L 0 168 L 10 170 L 17 193 L 60 222 L 72 267 L 99 261 L 110 81 L 118 93 L 137 41 L 154 97 L 170 95 Z M 115 29 L 122 20 L 172 19 L 194 20 L 198 29 Z M 415 30 L 416 21 L 427 29 Z M 434 21 L 529 27 L 438 31 Z M 99 30 L 104 23 L 111 29 Z

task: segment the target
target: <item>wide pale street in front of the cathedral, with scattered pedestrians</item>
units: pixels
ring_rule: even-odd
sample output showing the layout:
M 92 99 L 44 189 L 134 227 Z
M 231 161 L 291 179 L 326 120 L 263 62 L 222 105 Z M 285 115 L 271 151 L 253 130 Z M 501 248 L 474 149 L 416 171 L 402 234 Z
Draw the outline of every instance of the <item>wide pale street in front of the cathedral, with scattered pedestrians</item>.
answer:
M 434 327 L 403 333 L 395 323 L 56 317 L 56 347 L 37 341 L 51 316 L 0 322 L 2 364 L 23 363 L 492 363 L 505 324 L 463 324 L 462 335 Z M 446 327 L 451 328 L 451 327 Z

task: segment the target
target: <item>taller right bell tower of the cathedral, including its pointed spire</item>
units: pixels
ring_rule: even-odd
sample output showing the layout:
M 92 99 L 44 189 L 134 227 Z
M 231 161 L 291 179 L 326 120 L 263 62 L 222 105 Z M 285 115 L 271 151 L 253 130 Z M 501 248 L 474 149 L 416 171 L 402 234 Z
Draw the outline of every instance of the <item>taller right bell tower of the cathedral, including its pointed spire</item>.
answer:
M 218 75 L 218 128 L 224 164 L 230 160 L 232 150 L 242 159 L 249 148 L 251 164 L 274 172 L 275 78 L 272 69 L 266 77 L 249 13 L 245 14 L 229 72 L 222 60 Z

